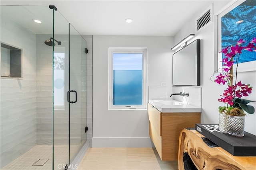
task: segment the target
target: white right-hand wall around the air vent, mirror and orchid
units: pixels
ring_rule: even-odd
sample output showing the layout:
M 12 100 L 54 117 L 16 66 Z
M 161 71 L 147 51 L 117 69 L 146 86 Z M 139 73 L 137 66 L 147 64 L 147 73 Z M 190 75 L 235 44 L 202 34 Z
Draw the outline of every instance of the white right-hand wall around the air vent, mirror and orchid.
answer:
M 226 4 L 230 1 L 224 1 L 222 6 L 213 6 L 214 15 L 227 8 Z M 206 7 L 207 8 L 207 7 Z M 191 18 L 191 20 L 182 27 L 182 29 L 175 36 L 175 43 L 178 43 L 181 39 L 191 33 L 195 33 L 195 20 L 206 9 L 202 9 L 198 15 Z M 201 39 L 201 86 L 202 86 L 202 114 L 201 123 L 218 123 L 218 106 L 222 106 L 221 102 L 218 102 L 220 94 L 226 89 L 227 86 L 221 86 L 210 80 L 210 77 L 214 72 L 214 53 L 217 49 L 214 49 L 214 43 L 216 41 L 216 29 L 214 29 L 214 23 L 211 23 L 202 31 L 196 34 L 196 38 Z M 217 51 L 219 52 L 219 51 Z M 213 77 L 216 77 L 216 74 Z M 238 80 L 246 84 L 251 84 L 253 88 L 252 94 L 246 99 L 256 101 L 256 72 L 242 72 L 238 74 Z M 256 102 L 250 103 L 250 105 L 256 108 Z M 253 115 L 247 114 L 245 117 L 245 131 L 256 135 L 256 113 Z

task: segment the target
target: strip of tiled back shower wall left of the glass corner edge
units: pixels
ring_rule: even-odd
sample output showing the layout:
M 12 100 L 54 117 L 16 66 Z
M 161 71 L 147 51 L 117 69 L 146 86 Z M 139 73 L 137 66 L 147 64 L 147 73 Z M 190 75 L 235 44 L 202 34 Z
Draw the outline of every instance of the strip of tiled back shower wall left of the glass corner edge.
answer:
M 52 47 L 51 35 L 36 35 L 37 145 L 52 145 Z

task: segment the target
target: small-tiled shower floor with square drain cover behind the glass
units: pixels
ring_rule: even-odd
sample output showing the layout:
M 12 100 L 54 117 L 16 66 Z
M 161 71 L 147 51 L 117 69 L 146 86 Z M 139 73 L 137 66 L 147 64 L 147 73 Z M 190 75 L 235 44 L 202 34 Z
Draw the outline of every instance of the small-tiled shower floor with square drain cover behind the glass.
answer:
M 70 157 L 76 154 L 79 147 L 70 146 Z M 68 145 L 54 145 L 54 170 L 64 170 L 63 164 L 67 163 Z M 52 170 L 52 145 L 36 145 L 1 170 Z

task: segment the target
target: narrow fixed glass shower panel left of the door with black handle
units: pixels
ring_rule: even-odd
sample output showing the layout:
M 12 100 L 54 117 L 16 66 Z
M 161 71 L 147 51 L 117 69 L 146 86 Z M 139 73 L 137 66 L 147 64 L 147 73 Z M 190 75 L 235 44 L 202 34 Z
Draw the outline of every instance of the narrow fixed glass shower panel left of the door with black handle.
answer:
M 64 170 L 69 164 L 69 23 L 53 8 L 53 159 L 54 170 Z

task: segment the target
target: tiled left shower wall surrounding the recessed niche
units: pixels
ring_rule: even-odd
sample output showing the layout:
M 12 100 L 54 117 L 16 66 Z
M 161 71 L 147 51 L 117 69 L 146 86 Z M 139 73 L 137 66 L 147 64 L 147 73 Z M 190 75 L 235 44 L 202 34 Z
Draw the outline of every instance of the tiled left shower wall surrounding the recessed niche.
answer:
M 1 168 L 36 145 L 36 35 L 1 15 L 1 42 L 22 49 L 23 78 L 1 78 Z

